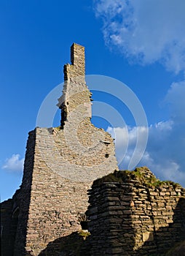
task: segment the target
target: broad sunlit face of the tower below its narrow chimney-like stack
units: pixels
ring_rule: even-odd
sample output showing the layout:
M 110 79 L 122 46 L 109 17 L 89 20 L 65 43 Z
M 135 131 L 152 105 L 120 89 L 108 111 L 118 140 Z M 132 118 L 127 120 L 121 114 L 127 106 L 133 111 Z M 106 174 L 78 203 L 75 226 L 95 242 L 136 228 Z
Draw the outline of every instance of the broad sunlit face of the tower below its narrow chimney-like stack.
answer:
M 78 214 L 87 210 L 87 189 L 93 179 L 108 173 L 107 165 L 112 170 L 117 167 L 110 135 L 103 132 L 104 140 L 110 142 L 105 144 L 99 141 L 99 130 L 89 121 L 81 126 L 77 146 L 71 137 L 65 137 L 64 129 L 36 128 L 25 246 L 31 255 L 39 255 L 50 241 L 81 228 Z M 91 133 L 97 136 L 93 138 L 99 145 L 95 148 L 91 147 Z M 80 151 L 78 144 L 84 144 L 86 151 Z

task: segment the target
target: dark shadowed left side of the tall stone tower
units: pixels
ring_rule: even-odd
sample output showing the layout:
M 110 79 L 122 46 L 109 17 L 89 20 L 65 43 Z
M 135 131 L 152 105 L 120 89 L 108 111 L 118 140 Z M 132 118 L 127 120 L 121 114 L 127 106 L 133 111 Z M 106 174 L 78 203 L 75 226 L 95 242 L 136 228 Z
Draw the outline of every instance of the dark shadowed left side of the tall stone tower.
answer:
M 28 208 L 34 165 L 35 132 L 29 132 L 26 146 L 23 182 L 11 200 L 1 203 L 2 255 L 24 255 Z M 15 246 L 16 245 L 16 246 Z

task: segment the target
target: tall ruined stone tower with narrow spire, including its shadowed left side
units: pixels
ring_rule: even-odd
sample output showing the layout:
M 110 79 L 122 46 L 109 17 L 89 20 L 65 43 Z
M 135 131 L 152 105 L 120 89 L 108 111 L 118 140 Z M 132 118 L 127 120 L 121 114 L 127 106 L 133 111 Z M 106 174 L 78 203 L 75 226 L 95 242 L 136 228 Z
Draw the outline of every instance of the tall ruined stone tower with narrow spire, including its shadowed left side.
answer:
M 29 132 L 22 184 L 2 203 L 4 256 L 39 255 L 51 241 L 79 230 L 92 181 L 118 170 L 111 135 L 90 122 L 84 70 L 84 47 L 73 44 L 58 103 L 60 127 Z

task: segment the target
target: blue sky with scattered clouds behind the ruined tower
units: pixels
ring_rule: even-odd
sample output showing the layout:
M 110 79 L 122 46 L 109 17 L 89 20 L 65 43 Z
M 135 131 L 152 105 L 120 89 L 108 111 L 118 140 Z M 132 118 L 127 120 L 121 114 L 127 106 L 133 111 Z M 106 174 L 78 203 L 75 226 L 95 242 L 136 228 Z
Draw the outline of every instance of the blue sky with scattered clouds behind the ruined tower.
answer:
M 20 186 L 28 132 L 46 95 L 63 82 L 73 42 L 86 49 L 87 75 L 116 78 L 141 101 L 149 140 L 138 165 L 185 187 L 184 12 L 184 0 L 1 1 L 1 200 Z M 124 117 L 125 168 L 137 137 L 133 118 L 106 94 L 93 99 Z M 109 122 L 92 121 L 113 134 Z M 125 127 L 114 128 L 119 159 Z M 138 128 L 144 135 L 147 127 Z

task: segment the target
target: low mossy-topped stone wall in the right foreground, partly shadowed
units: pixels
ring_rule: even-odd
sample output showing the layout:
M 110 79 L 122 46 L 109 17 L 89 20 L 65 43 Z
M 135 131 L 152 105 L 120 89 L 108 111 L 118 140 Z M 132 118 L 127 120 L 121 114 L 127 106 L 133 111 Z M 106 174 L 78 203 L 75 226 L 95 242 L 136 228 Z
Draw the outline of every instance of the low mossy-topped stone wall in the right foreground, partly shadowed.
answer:
M 185 239 L 185 189 L 146 167 L 111 173 L 90 190 L 90 255 L 165 255 Z

